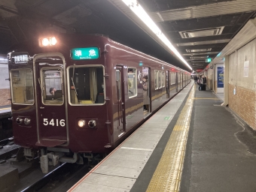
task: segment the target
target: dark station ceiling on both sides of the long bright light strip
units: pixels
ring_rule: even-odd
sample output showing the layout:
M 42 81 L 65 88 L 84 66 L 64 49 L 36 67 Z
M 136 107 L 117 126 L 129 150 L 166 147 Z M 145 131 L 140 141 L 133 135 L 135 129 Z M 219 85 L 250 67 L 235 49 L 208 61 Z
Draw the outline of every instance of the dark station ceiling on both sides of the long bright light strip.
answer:
M 134 1 L 134 0 L 133 0 Z M 256 0 L 138 0 L 194 69 L 256 15 Z M 121 0 L 1 0 L 0 53 L 49 33 L 104 34 L 189 70 Z

